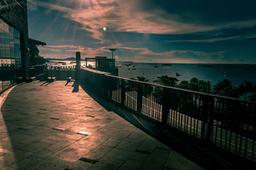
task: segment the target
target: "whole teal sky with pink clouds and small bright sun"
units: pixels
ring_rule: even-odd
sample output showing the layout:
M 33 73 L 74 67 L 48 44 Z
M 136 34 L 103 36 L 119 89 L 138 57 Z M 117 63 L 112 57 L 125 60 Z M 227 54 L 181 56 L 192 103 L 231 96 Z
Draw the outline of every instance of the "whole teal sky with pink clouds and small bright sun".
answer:
M 29 37 L 64 59 L 256 64 L 256 1 L 28 0 Z

